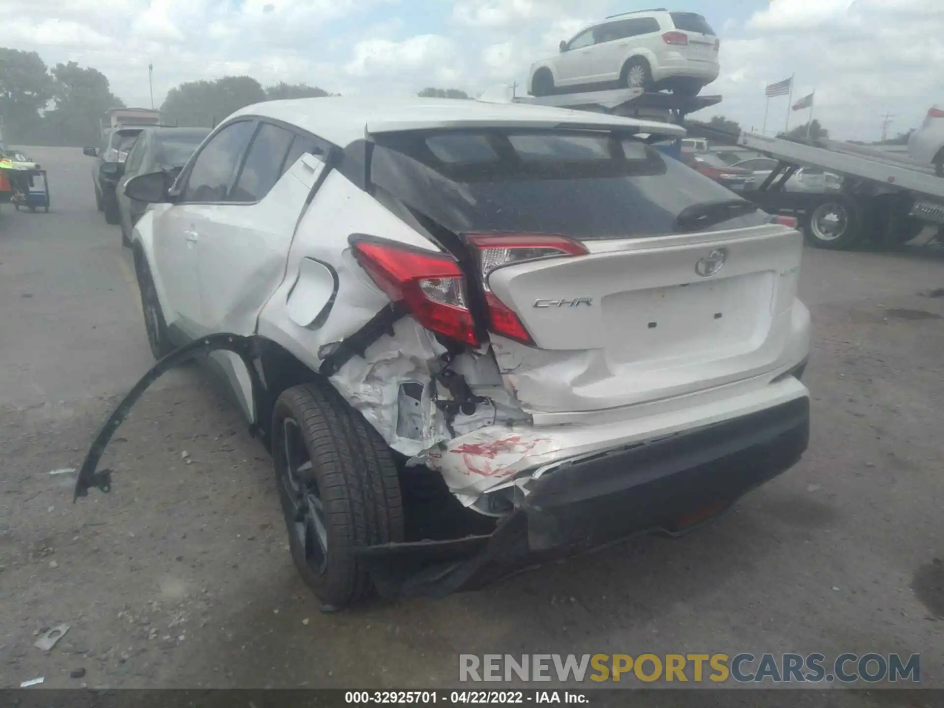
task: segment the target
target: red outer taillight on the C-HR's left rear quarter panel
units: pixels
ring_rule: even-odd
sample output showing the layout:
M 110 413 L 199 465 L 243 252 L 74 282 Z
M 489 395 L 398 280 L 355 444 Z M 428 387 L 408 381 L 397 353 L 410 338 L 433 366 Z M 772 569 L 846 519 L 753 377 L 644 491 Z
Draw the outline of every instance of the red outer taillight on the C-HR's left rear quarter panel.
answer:
M 465 278 L 454 258 L 377 241 L 352 246 L 354 257 L 380 290 L 404 303 L 423 327 L 467 345 L 479 344 Z

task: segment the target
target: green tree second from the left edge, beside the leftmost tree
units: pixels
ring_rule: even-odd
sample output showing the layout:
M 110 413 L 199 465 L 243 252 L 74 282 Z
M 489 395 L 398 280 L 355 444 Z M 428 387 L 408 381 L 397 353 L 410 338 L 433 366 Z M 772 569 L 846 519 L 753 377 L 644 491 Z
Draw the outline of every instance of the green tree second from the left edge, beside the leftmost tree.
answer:
M 53 78 L 54 108 L 43 119 L 47 140 L 62 145 L 95 145 L 101 140 L 100 121 L 106 110 L 125 104 L 111 93 L 109 79 L 97 69 L 75 61 L 57 64 Z

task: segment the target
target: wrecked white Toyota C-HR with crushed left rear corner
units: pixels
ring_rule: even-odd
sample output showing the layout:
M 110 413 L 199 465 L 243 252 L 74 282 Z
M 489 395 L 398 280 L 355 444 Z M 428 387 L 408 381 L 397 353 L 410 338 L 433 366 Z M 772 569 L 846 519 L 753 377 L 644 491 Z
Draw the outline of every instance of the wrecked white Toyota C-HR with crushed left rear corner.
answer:
M 666 157 L 679 126 L 314 98 L 216 127 L 132 234 L 160 362 L 208 354 L 325 609 L 682 531 L 807 445 L 801 234 Z M 179 347 L 179 348 L 178 348 Z

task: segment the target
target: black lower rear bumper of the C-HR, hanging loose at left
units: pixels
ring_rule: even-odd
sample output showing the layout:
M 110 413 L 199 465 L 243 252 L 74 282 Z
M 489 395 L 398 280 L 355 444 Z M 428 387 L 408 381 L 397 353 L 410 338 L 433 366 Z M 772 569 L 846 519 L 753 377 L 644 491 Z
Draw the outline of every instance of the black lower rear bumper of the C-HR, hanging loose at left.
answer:
M 442 597 L 526 566 L 642 531 L 683 531 L 800 459 L 801 396 L 697 430 L 564 461 L 518 485 L 516 508 L 487 536 L 362 548 L 385 596 Z

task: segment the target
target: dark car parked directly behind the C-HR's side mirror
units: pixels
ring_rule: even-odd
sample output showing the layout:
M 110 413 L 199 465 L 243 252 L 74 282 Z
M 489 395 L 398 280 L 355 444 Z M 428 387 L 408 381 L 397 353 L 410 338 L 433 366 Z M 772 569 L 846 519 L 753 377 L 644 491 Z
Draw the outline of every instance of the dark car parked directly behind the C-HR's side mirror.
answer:
M 187 160 L 203 139 L 210 135 L 208 127 L 145 127 L 128 151 L 127 160 L 118 180 L 115 198 L 121 224 L 122 244 L 130 245 L 131 229 L 147 208 L 145 202 L 125 194 L 125 185 L 133 177 L 149 172 L 163 172 L 170 187 Z

